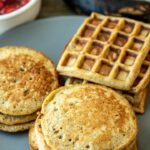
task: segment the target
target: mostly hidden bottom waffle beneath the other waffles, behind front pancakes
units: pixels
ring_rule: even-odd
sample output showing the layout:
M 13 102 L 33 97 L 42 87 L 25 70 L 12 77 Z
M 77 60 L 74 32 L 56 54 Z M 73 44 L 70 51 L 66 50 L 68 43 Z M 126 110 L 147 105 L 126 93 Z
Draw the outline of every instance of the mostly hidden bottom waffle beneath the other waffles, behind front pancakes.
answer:
M 65 85 L 71 85 L 71 84 L 86 84 L 89 83 L 87 80 L 81 80 L 77 78 L 68 78 L 65 82 Z M 147 95 L 147 88 L 140 91 L 137 94 L 129 93 L 126 91 L 119 91 L 120 94 L 122 94 L 132 105 L 133 110 L 136 113 L 144 113 L 145 111 L 145 102 L 146 102 L 146 95 Z

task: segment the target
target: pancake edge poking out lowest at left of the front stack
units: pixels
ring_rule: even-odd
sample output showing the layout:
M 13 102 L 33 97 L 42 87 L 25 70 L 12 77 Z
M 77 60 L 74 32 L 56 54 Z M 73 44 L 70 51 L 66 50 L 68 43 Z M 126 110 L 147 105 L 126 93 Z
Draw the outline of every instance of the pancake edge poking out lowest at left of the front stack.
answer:
M 29 130 L 29 145 L 31 150 L 38 150 L 34 126 Z

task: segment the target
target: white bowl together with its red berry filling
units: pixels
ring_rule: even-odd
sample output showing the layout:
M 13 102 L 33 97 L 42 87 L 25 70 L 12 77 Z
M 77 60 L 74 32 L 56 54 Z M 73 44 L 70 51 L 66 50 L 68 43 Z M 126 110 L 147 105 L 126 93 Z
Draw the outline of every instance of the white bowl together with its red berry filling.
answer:
M 40 7 L 41 0 L 0 0 L 0 34 L 34 20 Z

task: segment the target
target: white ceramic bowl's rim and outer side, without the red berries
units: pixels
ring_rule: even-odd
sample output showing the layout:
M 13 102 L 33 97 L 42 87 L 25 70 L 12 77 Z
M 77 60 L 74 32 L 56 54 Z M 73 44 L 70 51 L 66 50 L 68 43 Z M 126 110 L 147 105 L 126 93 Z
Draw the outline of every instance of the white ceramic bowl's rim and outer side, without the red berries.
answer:
M 34 20 L 41 7 L 41 0 L 30 0 L 26 5 L 9 14 L 0 15 L 0 34 L 28 21 Z

